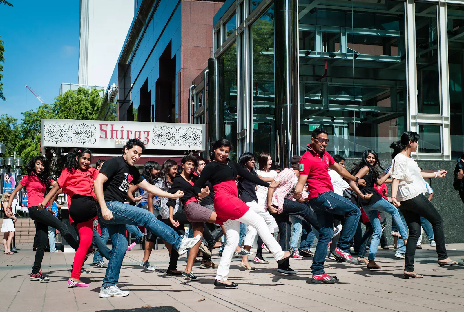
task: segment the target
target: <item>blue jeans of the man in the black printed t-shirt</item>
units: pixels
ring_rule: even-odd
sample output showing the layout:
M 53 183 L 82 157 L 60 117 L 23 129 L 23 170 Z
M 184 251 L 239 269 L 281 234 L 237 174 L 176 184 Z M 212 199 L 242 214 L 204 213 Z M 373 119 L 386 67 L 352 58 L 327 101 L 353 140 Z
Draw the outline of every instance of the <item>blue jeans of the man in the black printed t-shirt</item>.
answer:
M 180 237 L 172 228 L 155 218 L 155 215 L 148 210 L 126 205 L 122 202 L 106 202 L 106 206 L 113 213 L 113 219 L 105 220 L 102 210 L 98 209 L 98 218 L 105 223 L 111 237 L 112 249 L 110 251 L 110 261 L 103 279 L 103 287 L 116 285 L 121 271 L 122 260 L 126 254 L 127 238 L 126 224 L 140 225 L 147 228 L 175 250 L 179 250 Z

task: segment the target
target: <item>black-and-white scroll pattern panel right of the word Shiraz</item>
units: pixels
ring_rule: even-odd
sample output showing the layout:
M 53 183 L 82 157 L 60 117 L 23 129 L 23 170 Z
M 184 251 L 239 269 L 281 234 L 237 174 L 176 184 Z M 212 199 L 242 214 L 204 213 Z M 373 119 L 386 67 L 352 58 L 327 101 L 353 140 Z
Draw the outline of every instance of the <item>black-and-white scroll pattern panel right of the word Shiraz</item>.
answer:
M 155 145 L 178 145 L 180 148 L 201 146 L 202 131 L 199 127 L 155 126 L 152 143 Z

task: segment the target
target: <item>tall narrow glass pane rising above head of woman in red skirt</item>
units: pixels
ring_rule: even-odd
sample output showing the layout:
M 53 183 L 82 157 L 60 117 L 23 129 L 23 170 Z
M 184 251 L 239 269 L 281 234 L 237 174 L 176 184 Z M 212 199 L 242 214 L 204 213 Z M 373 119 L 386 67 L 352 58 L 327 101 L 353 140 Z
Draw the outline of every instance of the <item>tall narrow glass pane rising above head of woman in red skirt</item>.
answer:
M 234 43 L 219 58 L 219 110 L 224 118 L 224 132 L 219 137 L 226 137 L 237 146 L 237 43 Z M 220 116 L 220 115 L 219 115 Z M 237 148 L 230 158 L 237 160 Z

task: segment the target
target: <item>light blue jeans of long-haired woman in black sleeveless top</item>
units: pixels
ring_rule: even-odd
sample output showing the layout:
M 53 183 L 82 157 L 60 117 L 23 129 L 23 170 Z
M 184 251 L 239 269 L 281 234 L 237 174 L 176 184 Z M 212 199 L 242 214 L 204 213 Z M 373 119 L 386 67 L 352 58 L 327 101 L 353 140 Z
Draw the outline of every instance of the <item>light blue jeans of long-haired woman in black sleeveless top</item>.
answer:
M 407 238 L 407 228 L 403 226 L 403 222 L 401 221 L 400 213 L 398 209 L 393 206 L 390 202 L 388 202 L 385 198 L 380 199 L 380 201 L 375 202 L 372 205 L 364 206 L 364 212 L 366 213 L 369 221 L 374 228 L 372 233 L 372 240 L 371 245 L 369 248 L 369 260 L 374 261 L 375 255 L 377 254 L 377 249 L 379 247 L 380 236 L 382 236 L 382 227 L 380 225 L 379 216 L 377 215 L 377 211 L 384 211 L 392 215 L 392 219 L 398 224 L 398 229 L 403 239 Z M 364 245 L 364 249 L 366 245 Z M 362 251 L 362 254 L 365 254 L 365 250 Z

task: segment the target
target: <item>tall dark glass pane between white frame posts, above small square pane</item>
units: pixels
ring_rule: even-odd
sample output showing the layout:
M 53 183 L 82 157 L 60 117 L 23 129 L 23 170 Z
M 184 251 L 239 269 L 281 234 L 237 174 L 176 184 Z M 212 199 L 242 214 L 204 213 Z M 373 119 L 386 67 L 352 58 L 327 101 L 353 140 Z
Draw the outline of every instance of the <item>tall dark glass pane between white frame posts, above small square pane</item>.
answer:
M 437 5 L 415 2 L 417 103 L 419 113 L 440 113 Z

